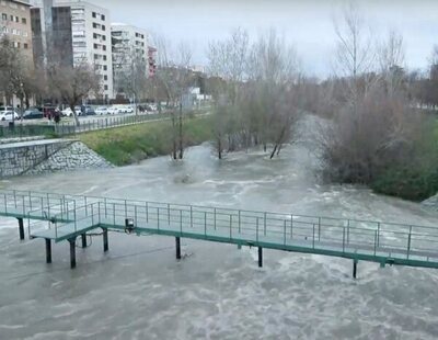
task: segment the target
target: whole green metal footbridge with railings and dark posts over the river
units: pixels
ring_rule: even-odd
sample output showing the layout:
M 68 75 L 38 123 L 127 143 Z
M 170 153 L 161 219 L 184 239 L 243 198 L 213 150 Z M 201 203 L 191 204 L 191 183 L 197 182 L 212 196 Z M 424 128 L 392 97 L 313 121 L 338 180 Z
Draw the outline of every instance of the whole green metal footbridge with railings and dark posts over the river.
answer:
M 359 260 L 385 264 L 438 268 L 438 228 L 385 222 L 355 220 L 268 212 L 239 211 L 172 203 L 53 193 L 0 191 L 0 216 L 19 220 L 20 238 L 70 243 L 76 267 L 76 241 L 87 247 L 87 233 L 102 231 L 104 251 L 108 231 L 175 237 L 181 259 L 181 238 L 252 246 L 351 259 L 356 277 Z

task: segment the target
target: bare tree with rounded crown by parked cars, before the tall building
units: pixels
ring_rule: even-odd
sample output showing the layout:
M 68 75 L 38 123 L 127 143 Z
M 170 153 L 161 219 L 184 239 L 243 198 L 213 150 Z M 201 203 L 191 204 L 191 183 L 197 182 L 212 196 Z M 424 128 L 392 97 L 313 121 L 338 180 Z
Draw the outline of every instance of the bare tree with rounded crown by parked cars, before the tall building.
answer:
M 99 95 L 101 76 L 85 60 L 76 66 L 53 63 L 47 68 L 49 89 L 61 101 L 69 104 L 77 126 L 80 125 L 74 106 L 91 94 Z

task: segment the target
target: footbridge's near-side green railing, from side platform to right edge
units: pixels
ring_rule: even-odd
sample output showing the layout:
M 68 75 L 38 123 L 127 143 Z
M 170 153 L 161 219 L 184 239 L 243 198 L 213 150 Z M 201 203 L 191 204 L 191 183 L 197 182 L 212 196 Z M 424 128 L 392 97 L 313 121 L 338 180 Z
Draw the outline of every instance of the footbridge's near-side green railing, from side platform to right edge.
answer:
M 115 226 L 129 218 L 139 227 L 230 240 L 405 258 L 413 252 L 423 252 L 425 258 L 438 253 L 438 229 L 431 227 L 110 199 L 101 201 L 100 216 Z

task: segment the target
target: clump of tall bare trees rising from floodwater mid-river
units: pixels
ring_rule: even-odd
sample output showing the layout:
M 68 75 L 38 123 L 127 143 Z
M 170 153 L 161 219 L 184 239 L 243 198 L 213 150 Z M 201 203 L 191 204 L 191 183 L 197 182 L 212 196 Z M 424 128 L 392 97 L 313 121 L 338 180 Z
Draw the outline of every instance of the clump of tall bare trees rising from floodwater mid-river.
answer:
M 238 29 L 227 39 L 210 43 L 208 58 L 210 73 L 224 82 L 217 82 L 212 91 L 219 158 L 226 145 L 233 151 L 260 144 L 266 150 L 272 144 L 270 157 L 278 155 L 293 136 L 298 117 L 295 48 L 275 30 L 250 45 L 247 33 Z

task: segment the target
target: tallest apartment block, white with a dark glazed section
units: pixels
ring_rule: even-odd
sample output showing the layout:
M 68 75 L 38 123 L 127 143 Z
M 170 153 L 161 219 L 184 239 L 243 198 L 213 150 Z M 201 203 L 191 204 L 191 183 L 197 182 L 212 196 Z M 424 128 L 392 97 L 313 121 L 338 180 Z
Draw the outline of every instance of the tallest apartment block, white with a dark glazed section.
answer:
M 73 66 L 91 64 L 102 76 L 103 98 L 113 98 L 110 11 L 85 1 L 36 0 L 33 3 L 36 60 L 56 57 Z

